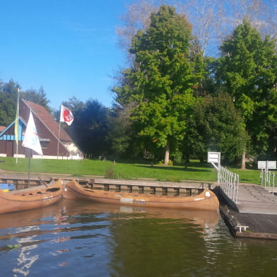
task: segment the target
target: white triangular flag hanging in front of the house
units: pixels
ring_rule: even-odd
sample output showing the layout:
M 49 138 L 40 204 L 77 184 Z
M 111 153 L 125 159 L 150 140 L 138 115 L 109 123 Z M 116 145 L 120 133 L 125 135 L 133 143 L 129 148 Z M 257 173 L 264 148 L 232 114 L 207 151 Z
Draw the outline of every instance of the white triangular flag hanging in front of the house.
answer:
M 37 134 L 37 128 L 35 128 L 35 122 L 31 111 L 22 146 L 32 149 L 39 155 L 43 155 L 42 147 L 40 146 L 40 139 Z

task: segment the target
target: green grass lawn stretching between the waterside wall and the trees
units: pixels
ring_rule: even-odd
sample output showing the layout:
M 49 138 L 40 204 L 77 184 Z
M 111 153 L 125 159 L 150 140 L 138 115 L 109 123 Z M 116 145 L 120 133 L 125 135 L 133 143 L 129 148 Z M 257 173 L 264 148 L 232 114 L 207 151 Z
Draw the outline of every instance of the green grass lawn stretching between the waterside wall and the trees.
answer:
M 16 172 L 28 172 L 28 158 L 0 158 L 0 169 Z M 238 170 L 228 167 L 228 170 L 240 176 L 240 182 L 259 184 L 259 170 Z M 191 161 L 184 165 L 153 165 L 151 161 L 142 163 L 118 162 L 113 165 L 110 161 L 102 160 L 46 160 L 30 159 L 30 172 L 45 172 L 53 174 L 69 174 L 74 177 L 84 175 L 100 175 L 117 179 L 152 178 L 179 182 L 181 180 L 199 180 L 216 182 L 217 172 L 211 164 Z

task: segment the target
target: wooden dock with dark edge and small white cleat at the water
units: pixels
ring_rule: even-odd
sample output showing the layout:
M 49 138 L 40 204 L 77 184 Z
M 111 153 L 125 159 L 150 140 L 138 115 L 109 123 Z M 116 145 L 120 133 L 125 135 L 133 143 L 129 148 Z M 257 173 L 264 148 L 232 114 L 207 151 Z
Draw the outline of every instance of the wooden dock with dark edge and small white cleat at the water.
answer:
M 220 214 L 235 237 L 277 240 L 277 197 L 256 184 L 240 184 L 237 203 L 216 189 Z

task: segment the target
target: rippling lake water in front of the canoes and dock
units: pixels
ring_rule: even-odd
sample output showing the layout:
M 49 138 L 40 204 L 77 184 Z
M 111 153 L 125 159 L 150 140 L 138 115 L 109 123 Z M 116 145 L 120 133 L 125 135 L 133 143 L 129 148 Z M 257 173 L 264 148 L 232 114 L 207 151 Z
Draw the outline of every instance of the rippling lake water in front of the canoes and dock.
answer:
M 276 276 L 277 242 L 218 213 L 63 200 L 0 215 L 0 276 Z

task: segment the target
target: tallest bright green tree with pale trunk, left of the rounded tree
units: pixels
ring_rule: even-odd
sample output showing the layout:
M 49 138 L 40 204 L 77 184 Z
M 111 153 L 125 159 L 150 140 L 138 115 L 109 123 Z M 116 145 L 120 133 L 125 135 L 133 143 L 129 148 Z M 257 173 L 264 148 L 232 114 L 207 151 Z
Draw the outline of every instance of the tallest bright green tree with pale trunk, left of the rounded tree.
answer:
M 145 141 L 165 148 L 164 163 L 170 147 L 182 141 L 192 95 L 193 73 L 189 60 L 191 25 L 171 6 L 160 6 L 151 15 L 150 27 L 132 40 L 134 66 L 122 73 L 123 86 L 114 88 L 117 102 L 135 103 L 131 112 L 137 133 Z

